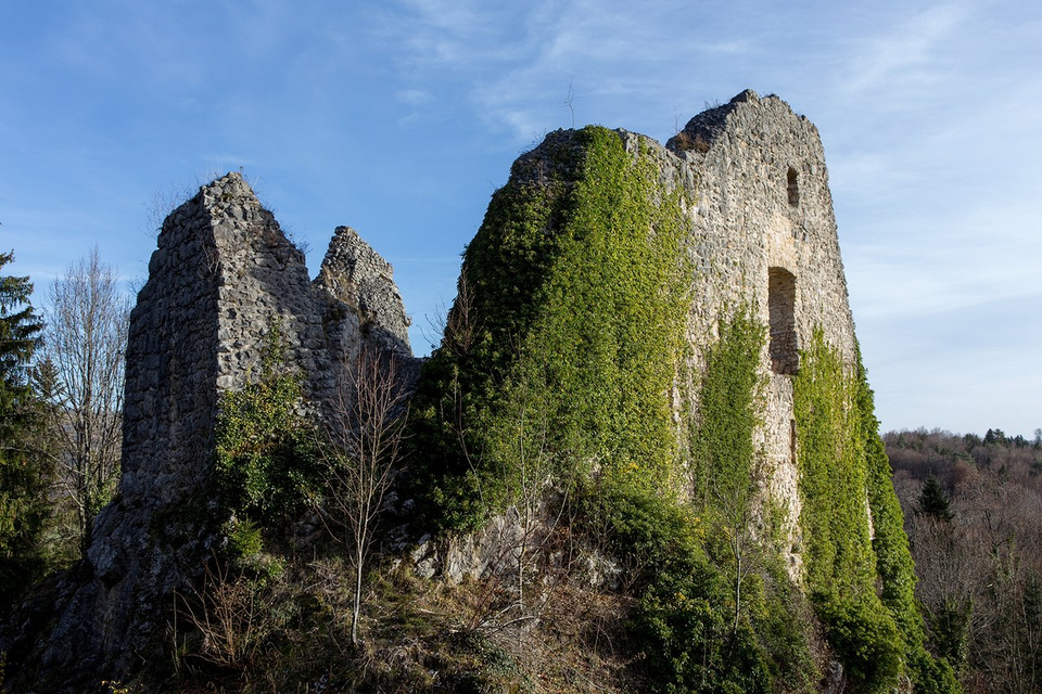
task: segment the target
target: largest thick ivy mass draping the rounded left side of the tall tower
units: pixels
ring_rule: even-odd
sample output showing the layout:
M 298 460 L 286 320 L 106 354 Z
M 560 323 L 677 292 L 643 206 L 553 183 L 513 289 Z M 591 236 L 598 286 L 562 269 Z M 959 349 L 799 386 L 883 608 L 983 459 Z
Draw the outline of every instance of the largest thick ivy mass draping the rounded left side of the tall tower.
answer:
M 587 127 L 514 164 L 467 248 L 465 345 L 446 335 L 412 402 L 417 479 L 444 528 L 476 527 L 529 472 L 640 471 L 670 486 L 670 416 L 690 269 L 681 188 Z M 508 271 L 504 271 L 508 268 Z M 466 287 L 462 284 L 466 282 Z

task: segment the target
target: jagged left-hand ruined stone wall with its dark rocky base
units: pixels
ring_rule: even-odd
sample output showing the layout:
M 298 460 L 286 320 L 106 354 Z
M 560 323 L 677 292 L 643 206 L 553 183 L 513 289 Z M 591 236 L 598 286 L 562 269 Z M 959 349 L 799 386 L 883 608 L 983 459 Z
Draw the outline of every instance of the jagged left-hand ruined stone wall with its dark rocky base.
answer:
M 342 227 L 313 283 L 238 174 L 170 213 L 157 244 L 130 318 L 119 492 L 47 618 L 37 606 L 0 635 L 9 682 L 15 657 L 26 683 L 46 672 L 48 691 L 87 691 L 166 655 L 174 592 L 191 589 L 221 520 L 207 488 L 218 396 L 251 378 L 272 324 L 317 416 L 367 345 L 411 361 L 391 266 Z

